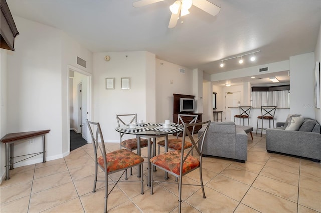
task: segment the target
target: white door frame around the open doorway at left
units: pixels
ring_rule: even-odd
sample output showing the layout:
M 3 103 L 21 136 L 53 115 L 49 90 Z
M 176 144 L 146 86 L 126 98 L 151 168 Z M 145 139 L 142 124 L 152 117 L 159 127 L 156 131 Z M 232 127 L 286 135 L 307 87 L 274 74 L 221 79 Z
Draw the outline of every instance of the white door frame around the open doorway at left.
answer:
M 69 72 L 70 71 L 75 71 L 75 72 L 79 72 L 83 75 L 86 75 L 87 76 L 87 111 L 88 111 L 88 115 L 87 115 L 87 119 L 88 120 L 92 120 L 92 117 L 93 117 L 93 83 L 92 83 L 92 80 L 93 80 L 93 77 L 92 77 L 92 74 L 91 73 L 88 73 L 82 69 L 79 69 L 75 66 L 72 66 L 72 65 L 67 65 L 67 99 L 69 100 Z M 68 106 L 67 106 L 67 127 L 68 129 L 67 132 L 68 132 L 68 150 L 70 150 L 70 110 L 69 110 L 69 101 L 68 101 Z M 86 126 L 86 129 L 87 129 L 87 126 Z M 91 137 L 89 137 L 88 135 L 89 132 L 87 133 L 87 142 L 88 143 L 92 143 L 91 141 Z

